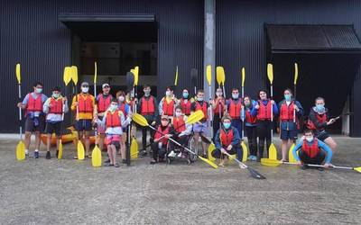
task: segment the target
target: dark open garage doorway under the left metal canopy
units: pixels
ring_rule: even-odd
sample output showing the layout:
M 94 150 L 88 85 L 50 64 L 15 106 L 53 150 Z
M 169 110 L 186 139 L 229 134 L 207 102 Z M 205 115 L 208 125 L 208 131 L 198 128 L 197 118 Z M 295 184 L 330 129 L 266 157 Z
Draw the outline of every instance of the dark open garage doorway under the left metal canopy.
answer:
M 111 94 L 126 90 L 126 72 L 139 67 L 138 85 L 152 86 L 157 93 L 158 31 L 154 15 L 60 15 L 72 31 L 72 64 L 79 66 L 79 81 L 93 83 L 97 62 L 97 93 L 101 84 Z M 142 94 L 143 88 L 138 88 Z M 91 92 L 92 93 L 92 92 Z

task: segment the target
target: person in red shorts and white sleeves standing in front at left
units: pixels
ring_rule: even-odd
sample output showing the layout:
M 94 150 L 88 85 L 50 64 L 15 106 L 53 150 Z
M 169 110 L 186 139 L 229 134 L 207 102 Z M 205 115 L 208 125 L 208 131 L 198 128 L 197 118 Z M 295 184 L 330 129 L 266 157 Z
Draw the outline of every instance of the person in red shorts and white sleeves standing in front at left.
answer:
M 125 114 L 118 107 L 118 101 L 113 99 L 106 109 L 102 121 L 99 121 L 97 121 L 98 124 L 100 123 L 106 130 L 106 148 L 109 157 L 109 163 L 106 166 L 119 167 L 116 161 L 116 148 L 120 147 L 123 129 L 131 122 L 131 115 L 128 114 L 125 117 Z M 126 163 L 125 148 L 120 148 L 120 153 L 122 162 Z

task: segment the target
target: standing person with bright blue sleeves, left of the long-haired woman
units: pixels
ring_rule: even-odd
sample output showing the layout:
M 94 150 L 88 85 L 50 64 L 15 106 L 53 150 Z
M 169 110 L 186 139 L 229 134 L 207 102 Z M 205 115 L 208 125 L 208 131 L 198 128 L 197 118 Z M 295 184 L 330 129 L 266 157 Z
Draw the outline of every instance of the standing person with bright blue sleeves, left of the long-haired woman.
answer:
M 257 116 L 255 115 L 257 102 L 248 95 L 245 95 L 243 102 L 245 107 L 242 114 L 245 114 L 245 134 L 250 151 L 248 160 L 255 161 L 257 160 Z

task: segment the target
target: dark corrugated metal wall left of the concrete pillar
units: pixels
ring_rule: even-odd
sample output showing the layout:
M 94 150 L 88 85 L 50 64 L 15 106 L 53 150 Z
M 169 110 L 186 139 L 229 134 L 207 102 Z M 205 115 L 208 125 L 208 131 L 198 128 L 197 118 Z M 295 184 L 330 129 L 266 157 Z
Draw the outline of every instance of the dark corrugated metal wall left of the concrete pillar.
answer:
M 5 1 L 0 4 L 0 82 L 2 84 L 0 132 L 17 130 L 16 62 L 22 64 L 23 95 L 32 82 L 44 83 L 45 94 L 62 84 L 63 67 L 71 62 L 71 32 L 58 14 L 155 14 L 159 27 L 159 90 L 174 80 L 179 66 L 179 85 L 190 88 L 191 67 L 202 74 L 202 0 L 77 0 Z M 202 85 L 202 77 L 199 77 Z

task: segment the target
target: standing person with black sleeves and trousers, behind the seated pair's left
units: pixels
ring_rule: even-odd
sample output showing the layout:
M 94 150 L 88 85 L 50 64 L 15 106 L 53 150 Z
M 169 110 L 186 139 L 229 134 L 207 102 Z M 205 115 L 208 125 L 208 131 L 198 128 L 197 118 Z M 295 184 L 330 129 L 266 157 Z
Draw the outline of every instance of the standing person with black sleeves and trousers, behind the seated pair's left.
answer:
M 143 96 L 139 99 L 137 103 L 137 112 L 142 114 L 143 117 L 148 121 L 152 126 L 155 125 L 155 121 L 158 117 L 158 104 L 157 99 L 151 94 L 151 86 L 143 85 Z M 140 151 L 141 157 L 147 155 L 146 143 L 147 143 L 147 131 L 150 133 L 150 142 L 153 143 L 154 132 L 149 127 L 144 126 L 142 129 L 142 146 L 143 148 Z

